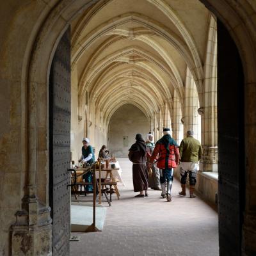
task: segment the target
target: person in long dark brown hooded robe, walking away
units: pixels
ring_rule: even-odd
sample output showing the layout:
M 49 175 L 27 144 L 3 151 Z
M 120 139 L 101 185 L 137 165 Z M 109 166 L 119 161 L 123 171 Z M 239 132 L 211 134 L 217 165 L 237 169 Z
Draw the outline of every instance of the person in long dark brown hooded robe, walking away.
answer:
M 146 143 L 143 140 L 141 134 L 136 134 L 136 143 L 132 144 L 129 149 L 129 159 L 132 161 L 132 181 L 134 192 L 139 192 L 139 195 L 134 197 L 148 196 L 148 172 L 146 166 Z

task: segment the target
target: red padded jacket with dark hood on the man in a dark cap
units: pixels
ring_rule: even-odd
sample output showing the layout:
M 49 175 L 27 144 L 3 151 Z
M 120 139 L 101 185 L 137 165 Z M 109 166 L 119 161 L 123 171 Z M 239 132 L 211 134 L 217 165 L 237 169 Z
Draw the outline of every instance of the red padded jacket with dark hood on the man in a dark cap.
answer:
M 156 143 L 156 147 L 150 158 L 150 162 L 153 163 L 157 155 L 157 167 L 160 169 L 175 168 L 179 163 L 179 148 L 175 140 L 170 135 L 164 135 Z

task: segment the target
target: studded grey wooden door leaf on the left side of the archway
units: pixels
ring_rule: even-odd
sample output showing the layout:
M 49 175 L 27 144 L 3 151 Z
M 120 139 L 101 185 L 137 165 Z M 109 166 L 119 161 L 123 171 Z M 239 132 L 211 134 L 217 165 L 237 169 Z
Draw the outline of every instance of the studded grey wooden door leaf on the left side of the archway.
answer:
M 58 44 L 49 80 L 49 202 L 52 253 L 69 255 L 70 239 L 70 29 Z

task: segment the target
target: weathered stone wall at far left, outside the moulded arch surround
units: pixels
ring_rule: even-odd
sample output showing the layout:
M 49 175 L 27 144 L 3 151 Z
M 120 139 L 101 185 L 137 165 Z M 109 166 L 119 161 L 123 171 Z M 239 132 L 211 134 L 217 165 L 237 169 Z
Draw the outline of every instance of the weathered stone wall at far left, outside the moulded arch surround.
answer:
M 36 4 L 33 13 L 28 3 L 19 1 L 1 2 L 0 7 L 0 255 L 11 255 L 10 228 L 22 208 L 28 183 L 28 88 L 24 83 L 26 65 L 22 65 L 28 58 L 29 36 L 35 33 L 35 17 L 43 7 Z M 45 147 L 45 143 L 38 144 Z

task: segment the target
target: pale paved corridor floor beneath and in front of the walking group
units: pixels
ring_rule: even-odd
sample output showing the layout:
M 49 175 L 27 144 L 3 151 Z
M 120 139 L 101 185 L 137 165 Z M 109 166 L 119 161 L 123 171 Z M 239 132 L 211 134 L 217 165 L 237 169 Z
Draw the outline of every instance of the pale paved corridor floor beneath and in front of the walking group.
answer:
M 138 193 L 133 191 L 132 163 L 127 158 L 118 161 L 125 182 L 118 187 L 120 200 L 114 194 L 111 207 L 103 202 L 108 209 L 102 232 L 72 232 L 80 241 L 70 242 L 70 255 L 218 255 L 218 214 L 210 205 L 198 196 L 188 198 L 188 190 L 187 197 L 179 196 L 178 180 L 172 202 L 152 189 L 148 197 L 134 198 Z

